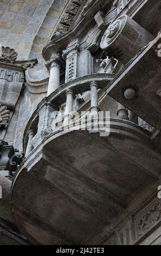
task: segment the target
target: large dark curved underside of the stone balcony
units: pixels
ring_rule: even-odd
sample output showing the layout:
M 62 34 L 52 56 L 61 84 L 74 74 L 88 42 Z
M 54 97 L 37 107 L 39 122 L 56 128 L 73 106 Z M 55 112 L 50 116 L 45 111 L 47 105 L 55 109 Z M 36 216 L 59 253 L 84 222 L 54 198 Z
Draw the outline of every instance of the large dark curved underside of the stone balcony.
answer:
M 11 205 L 17 226 L 34 244 L 86 244 L 157 179 L 160 160 L 150 133 L 130 121 L 110 120 L 107 137 L 87 130 L 53 132 L 15 176 Z

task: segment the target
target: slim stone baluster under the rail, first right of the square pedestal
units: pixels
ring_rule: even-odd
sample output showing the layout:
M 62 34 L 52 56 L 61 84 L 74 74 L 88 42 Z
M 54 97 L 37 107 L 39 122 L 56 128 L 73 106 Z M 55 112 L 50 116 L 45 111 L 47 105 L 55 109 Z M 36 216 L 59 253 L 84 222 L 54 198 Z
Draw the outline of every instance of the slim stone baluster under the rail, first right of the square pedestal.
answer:
M 69 121 L 73 118 L 72 111 L 73 111 L 73 91 L 71 89 L 68 89 L 66 91 L 64 125 L 67 125 Z

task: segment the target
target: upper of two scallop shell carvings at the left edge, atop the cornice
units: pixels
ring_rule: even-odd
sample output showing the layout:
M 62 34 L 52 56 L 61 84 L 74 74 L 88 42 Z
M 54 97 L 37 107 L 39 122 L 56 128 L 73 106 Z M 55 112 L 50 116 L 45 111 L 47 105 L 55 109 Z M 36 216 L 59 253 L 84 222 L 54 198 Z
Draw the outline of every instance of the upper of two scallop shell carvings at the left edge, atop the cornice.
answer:
M 0 56 L 1 61 L 14 63 L 16 58 L 17 58 L 17 52 L 15 52 L 14 49 L 11 49 L 10 47 L 2 46 L 1 56 Z

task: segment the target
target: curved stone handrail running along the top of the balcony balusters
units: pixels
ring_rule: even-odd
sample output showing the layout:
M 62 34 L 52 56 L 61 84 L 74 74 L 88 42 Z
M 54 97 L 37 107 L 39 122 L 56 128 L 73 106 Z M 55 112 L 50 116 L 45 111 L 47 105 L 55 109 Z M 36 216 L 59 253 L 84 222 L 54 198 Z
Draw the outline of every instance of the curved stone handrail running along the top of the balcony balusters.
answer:
M 67 82 L 63 84 L 63 86 L 60 86 L 57 88 L 51 95 L 48 97 L 45 97 L 38 105 L 36 111 L 33 113 L 32 117 L 29 119 L 26 130 L 24 131 L 24 137 L 23 137 L 23 147 L 24 151 L 26 151 L 27 147 L 27 139 L 28 139 L 28 132 L 29 130 L 35 130 L 35 127 L 38 126 L 38 119 L 40 115 L 40 111 L 45 106 L 51 107 L 51 112 L 49 115 L 52 114 L 54 111 L 58 111 L 60 105 L 66 101 L 66 92 L 67 90 L 72 90 L 73 95 L 86 92 L 90 90 L 90 83 L 95 81 L 97 83 L 97 88 L 104 88 L 114 79 L 114 74 L 93 74 L 88 75 L 80 78 L 76 78 L 75 80 L 72 80 L 70 82 Z M 48 115 L 46 113 L 46 115 Z M 51 121 L 51 120 L 50 120 Z M 49 121 L 49 122 L 50 122 Z M 41 127 L 42 129 L 42 127 Z

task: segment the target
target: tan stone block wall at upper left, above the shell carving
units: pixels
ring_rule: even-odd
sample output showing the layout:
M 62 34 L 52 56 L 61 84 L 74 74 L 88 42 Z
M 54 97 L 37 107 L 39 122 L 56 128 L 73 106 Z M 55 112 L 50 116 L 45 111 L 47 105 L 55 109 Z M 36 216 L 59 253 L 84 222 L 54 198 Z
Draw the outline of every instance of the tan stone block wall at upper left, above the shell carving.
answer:
M 66 0 L 2 0 L 0 43 L 14 48 L 18 52 L 19 59 L 27 59 L 29 54 L 41 58 L 42 48 L 52 35 L 66 2 Z M 32 48 L 31 53 L 30 48 Z

